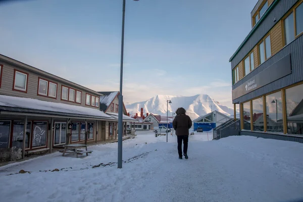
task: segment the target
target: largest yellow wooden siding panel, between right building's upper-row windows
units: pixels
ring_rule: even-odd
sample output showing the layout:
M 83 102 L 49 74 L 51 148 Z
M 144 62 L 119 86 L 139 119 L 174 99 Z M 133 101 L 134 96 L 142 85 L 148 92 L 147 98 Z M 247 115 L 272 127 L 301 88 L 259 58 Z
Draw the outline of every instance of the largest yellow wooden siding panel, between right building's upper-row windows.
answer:
M 282 25 L 279 21 L 270 31 L 272 55 L 278 53 L 282 47 Z

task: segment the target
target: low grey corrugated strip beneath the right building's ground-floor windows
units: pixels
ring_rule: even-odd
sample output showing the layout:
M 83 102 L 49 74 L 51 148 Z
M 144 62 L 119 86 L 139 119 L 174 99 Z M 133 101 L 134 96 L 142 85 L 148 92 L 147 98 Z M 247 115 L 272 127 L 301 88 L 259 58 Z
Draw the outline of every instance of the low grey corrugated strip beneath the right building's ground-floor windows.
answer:
M 249 131 L 241 131 L 241 135 L 249 135 L 249 136 L 261 137 L 261 138 L 265 138 L 265 139 L 277 139 L 277 140 L 294 141 L 294 142 L 303 143 L 303 137 L 294 137 L 294 136 L 277 135 L 277 134 L 269 134 L 269 133 L 258 133 L 258 132 L 249 132 Z

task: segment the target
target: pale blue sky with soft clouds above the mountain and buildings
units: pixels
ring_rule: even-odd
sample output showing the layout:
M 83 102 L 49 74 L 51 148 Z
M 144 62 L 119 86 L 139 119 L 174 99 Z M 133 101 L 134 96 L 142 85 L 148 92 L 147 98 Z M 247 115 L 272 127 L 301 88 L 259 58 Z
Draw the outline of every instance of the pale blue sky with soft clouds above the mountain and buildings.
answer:
M 126 0 L 125 102 L 209 94 L 231 107 L 228 62 L 257 0 Z M 94 90 L 119 90 L 122 0 L 0 3 L 0 53 Z

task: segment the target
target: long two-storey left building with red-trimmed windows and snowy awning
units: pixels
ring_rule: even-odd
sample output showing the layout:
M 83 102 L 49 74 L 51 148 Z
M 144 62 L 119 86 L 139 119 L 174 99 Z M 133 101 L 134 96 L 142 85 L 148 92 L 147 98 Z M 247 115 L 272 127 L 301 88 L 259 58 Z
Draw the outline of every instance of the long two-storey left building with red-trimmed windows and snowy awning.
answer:
M 105 126 L 118 119 L 99 110 L 103 96 L 0 55 L 0 161 L 106 141 Z

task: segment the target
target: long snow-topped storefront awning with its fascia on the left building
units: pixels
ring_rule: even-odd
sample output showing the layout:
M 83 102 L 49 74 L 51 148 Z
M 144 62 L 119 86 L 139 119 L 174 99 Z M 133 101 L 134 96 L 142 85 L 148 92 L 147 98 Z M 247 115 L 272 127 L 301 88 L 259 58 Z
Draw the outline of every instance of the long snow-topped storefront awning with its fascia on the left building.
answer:
M 47 102 L 26 97 L 0 95 L 0 114 L 39 114 L 48 117 L 62 116 L 66 118 L 85 118 L 117 120 L 99 109 L 92 109 L 64 103 Z

